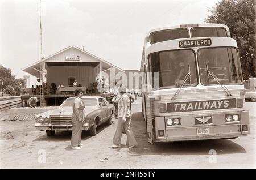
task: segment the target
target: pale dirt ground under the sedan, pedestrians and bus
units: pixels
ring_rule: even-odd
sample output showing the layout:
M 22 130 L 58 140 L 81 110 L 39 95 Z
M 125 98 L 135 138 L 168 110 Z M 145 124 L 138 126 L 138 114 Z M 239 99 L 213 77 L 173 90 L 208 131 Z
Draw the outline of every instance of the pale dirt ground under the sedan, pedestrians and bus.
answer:
M 111 148 L 117 126 L 117 119 L 113 119 L 112 125 L 98 127 L 96 136 L 83 132 L 82 149 L 71 150 L 71 132 L 57 132 L 48 137 L 45 131 L 35 130 L 34 115 L 53 108 L 14 108 L 0 112 L 1 168 L 256 168 L 256 118 L 253 117 L 248 136 L 152 145 L 147 143 L 141 98 L 138 98 L 132 107 L 131 122 L 138 148 L 126 147 L 126 135 L 121 149 Z M 211 154 L 214 151 L 216 158 Z

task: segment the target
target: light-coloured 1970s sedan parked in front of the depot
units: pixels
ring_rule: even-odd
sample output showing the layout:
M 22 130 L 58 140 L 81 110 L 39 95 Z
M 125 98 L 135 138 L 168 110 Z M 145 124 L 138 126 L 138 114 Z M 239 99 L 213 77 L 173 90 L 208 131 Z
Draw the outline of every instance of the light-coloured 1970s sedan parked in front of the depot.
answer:
M 55 131 L 72 131 L 71 116 L 74 99 L 75 97 L 69 97 L 59 108 L 36 115 L 36 130 L 46 130 L 47 136 L 53 136 Z M 99 125 L 112 124 L 112 115 L 115 113 L 113 104 L 109 104 L 101 96 L 83 96 L 82 100 L 85 102 L 85 121 L 82 130 L 89 131 L 90 135 L 95 136 Z

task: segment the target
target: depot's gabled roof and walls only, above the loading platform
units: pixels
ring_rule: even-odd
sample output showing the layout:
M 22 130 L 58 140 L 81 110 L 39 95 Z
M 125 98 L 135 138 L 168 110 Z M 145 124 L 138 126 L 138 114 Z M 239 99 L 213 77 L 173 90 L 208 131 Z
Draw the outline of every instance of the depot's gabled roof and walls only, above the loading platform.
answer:
M 97 78 L 102 78 L 102 72 L 107 73 L 110 79 L 110 68 L 114 68 L 115 74 L 125 72 L 112 63 L 76 46 L 69 46 L 43 58 L 43 69 L 44 74 L 46 74 L 44 81 L 49 84 L 55 83 L 57 86 L 62 84 L 65 87 L 71 87 L 73 82 L 77 80 L 78 85 L 88 88 L 90 83 L 96 82 Z M 40 78 L 40 61 L 22 70 Z M 108 84 L 109 79 L 105 79 L 106 84 Z

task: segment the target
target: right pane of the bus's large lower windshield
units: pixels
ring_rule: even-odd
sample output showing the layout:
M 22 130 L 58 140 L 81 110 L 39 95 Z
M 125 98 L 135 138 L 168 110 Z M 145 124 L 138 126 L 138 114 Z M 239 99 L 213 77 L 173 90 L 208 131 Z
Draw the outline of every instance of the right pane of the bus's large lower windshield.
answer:
M 235 48 L 204 48 L 197 52 L 201 84 L 216 85 L 242 84 L 242 72 L 237 49 Z M 213 72 L 216 79 L 207 73 Z

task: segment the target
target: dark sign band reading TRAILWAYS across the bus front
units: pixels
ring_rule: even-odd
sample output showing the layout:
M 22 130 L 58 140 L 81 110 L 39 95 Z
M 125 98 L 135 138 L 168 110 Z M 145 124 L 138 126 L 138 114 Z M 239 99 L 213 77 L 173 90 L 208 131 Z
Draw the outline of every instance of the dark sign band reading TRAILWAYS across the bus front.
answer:
M 167 103 L 168 112 L 236 108 L 236 99 Z

